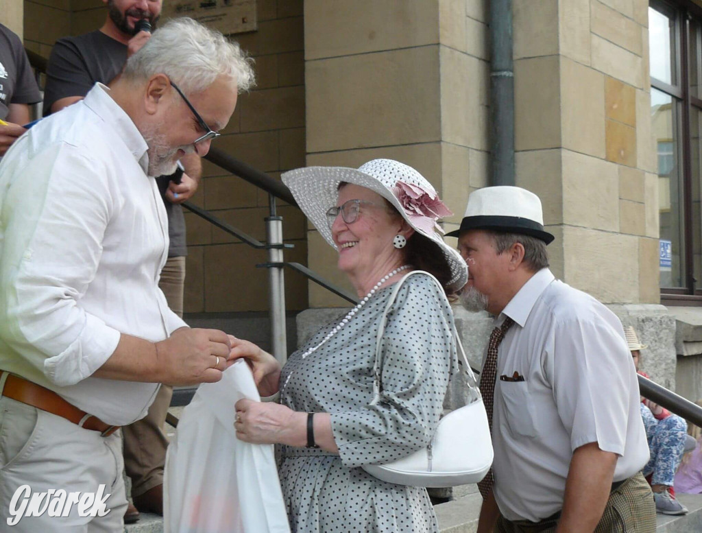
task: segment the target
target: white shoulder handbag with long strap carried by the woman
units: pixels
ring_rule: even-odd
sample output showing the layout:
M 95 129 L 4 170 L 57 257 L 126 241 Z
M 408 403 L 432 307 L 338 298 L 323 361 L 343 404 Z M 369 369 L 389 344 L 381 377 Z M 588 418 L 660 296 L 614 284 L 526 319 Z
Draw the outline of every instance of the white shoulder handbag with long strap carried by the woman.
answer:
M 392 296 L 385 306 L 383 320 L 380 321 L 378 337 L 376 339 L 376 364 L 375 382 L 373 383 L 374 400 L 380 398 L 380 344 L 385 331 L 388 310 L 397 297 L 397 292 L 402 283 L 411 275 L 422 273 L 434 279 L 441 287 L 439 281 L 422 270 L 414 270 L 403 277 L 392 292 Z M 443 294 L 443 289 L 442 289 Z M 448 305 L 448 302 L 446 302 Z M 470 370 L 468 359 L 465 357 L 461 339 L 458 338 L 456 325 L 451 323 L 453 338 L 456 339 L 456 348 L 461 353 L 468 384 L 468 402 L 464 407 L 459 407 L 446 414 L 435 430 L 429 445 L 413 454 L 392 461 L 391 463 L 364 465 L 363 469 L 374 477 L 398 485 L 412 487 L 454 487 L 477 483 L 489 471 L 493 459 L 492 439 L 487 414 L 480 396 L 480 391 Z

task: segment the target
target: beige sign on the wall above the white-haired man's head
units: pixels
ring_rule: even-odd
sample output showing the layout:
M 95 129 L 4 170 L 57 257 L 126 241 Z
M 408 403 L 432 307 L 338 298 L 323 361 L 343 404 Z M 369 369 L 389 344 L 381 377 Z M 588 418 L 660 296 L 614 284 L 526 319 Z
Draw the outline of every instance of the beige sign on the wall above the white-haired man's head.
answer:
M 194 18 L 225 35 L 258 29 L 256 0 L 168 0 L 161 15 Z

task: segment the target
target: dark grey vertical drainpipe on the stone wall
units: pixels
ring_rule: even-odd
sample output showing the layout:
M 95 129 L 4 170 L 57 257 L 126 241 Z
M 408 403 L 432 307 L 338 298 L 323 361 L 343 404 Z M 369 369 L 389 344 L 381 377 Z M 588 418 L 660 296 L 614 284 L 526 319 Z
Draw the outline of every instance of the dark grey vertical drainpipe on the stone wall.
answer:
M 515 185 L 512 0 L 490 0 L 491 185 Z

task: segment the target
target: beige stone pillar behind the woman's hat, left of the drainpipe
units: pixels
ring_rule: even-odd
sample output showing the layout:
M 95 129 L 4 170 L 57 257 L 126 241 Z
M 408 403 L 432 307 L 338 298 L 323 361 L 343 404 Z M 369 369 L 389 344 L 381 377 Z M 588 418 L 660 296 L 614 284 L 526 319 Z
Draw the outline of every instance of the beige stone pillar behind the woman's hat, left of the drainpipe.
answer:
M 455 228 L 486 185 L 487 54 L 481 0 L 305 1 L 307 164 L 409 164 Z M 307 238 L 310 268 L 345 284 L 336 251 Z M 310 307 L 333 305 L 348 304 L 310 286 Z

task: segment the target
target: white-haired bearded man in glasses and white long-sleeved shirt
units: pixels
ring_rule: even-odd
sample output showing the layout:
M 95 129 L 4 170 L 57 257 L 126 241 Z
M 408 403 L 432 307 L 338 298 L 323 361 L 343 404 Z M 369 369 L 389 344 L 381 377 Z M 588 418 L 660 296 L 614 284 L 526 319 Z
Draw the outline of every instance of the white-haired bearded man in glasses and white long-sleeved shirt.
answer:
M 218 381 L 231 364 L 227 334 L 188 328 L 157 286 L 168 228 L 154 176 L 206 154 L 252 78 L 236 44 L 169 22 L 111 88 L 95 84 L 0 163 L 0 515 L 25 486 L 104 489 L 110 509 L 25 515 L 13 531 L 121 532 L 115 430 L 158 383 Z

